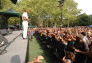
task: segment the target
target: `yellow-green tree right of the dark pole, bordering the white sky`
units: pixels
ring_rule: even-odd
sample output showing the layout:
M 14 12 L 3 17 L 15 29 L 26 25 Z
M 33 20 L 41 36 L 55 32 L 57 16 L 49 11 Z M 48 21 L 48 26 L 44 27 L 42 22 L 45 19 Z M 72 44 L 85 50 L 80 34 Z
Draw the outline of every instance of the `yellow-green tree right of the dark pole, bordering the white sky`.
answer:
M 63 7 L 64 23 L 68 26 L 75 23 L 77 16 L 80 14 L 80 9 L 77 9 L 77 3 L 74 0 L 65 0 Z

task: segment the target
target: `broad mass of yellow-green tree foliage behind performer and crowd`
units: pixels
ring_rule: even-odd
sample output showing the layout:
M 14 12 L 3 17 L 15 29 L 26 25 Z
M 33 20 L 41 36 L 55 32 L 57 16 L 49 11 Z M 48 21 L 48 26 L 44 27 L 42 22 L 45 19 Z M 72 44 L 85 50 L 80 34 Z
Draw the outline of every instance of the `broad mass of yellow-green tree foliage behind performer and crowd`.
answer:
M 53 27 L 61 24 L 69 26 L 76 23 L 80 13 L 77 3 L 73 0 L 65 0 L 63 7 L 60 6 L 58 0 L 21 0 L 16 5 L 10 0 L 3 0 L 3 2 L 2 10 L 13 8 L 22 14 L 23 9 L 27 9 L 31 18 L 30 23 L 37 26 Z

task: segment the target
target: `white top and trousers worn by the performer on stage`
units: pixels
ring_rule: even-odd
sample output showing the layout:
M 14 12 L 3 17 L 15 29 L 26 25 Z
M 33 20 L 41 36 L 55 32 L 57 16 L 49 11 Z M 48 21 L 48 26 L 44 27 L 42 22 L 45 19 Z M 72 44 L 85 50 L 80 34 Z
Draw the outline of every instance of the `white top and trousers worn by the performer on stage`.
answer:
M 24 12 L 22 14 L 22 17 L 25 17 L 26 19 L 28 19 L 27 12 Z M 27 38 L 27 30 L 28 30 L 28 21 L 27 20 L 22 21 L 22 27 L 23 27 L 23 38 Z

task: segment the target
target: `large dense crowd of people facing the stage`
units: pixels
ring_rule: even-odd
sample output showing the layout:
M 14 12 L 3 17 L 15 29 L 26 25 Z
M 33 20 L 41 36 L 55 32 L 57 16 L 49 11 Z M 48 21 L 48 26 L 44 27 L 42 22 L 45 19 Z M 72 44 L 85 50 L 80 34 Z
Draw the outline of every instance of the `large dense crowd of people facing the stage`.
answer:
M 92 28 L 31 28 L 28 35 L 36 36 L 61 63 L 92 63 Z

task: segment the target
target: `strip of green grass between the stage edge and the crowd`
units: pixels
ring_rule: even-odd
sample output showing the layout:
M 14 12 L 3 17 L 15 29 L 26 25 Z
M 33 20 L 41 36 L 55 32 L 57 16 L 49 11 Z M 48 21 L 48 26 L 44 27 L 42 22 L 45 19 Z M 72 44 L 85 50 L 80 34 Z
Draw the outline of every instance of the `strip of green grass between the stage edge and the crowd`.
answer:
M 51 58 L 52 54 L 44 50 L 40 45 L 40 43 L 36 40 L 36 38 L 33 37 L 32 40 L 29 40 L 27 62 L 32 61 L 34 58 L 36 58 L 39 55 L 44 57 L 43 63 L 54 63 L 52 62 L 53 59 Z

